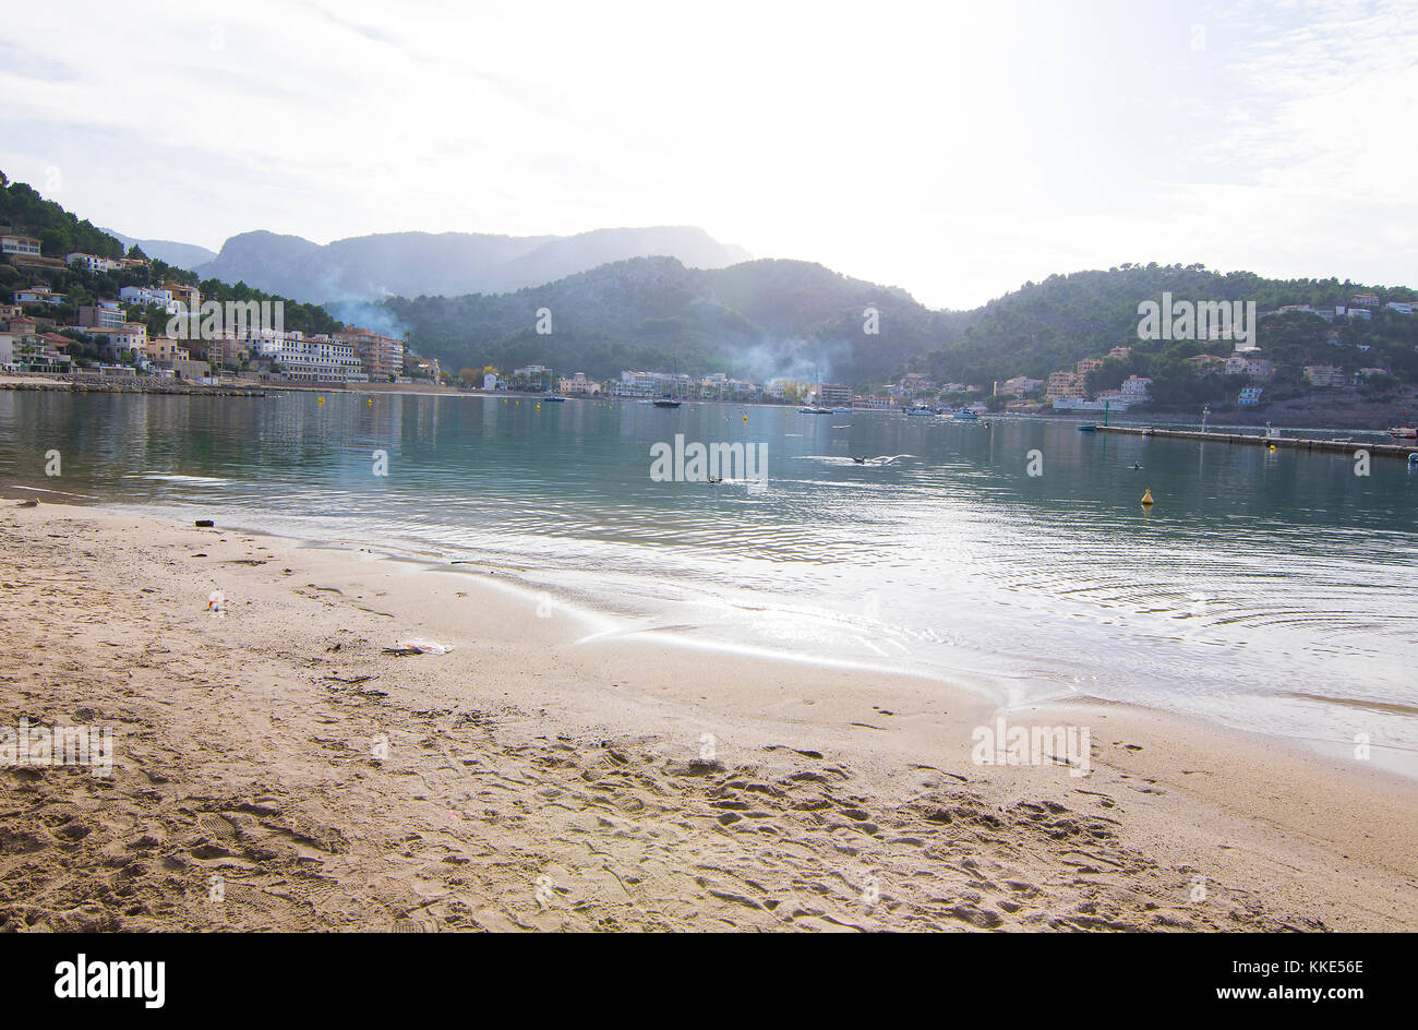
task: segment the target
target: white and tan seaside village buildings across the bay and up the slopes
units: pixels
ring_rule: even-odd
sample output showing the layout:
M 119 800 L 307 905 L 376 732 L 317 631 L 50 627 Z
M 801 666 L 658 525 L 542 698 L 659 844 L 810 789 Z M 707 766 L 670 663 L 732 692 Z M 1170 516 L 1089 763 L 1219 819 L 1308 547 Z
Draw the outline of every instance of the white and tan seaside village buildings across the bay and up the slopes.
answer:
M 92 274 L 145 270 L 143 257 L 108 258 L 74 253 L 62 258 L 45 257 L 40 240 L 16 234 L 0 226 L 0 255 L 16 268 L 31 272 L 77 268 Z M 162 287 L 129 285 L 119 295 L 95 304 L 69 305 L 68 297 L 35 284 L 14 289 L 11 304 L 0 304 L 0 372 L 72 373 L 75 379 L 111 379 L 126 382 L 186 383 L 193 386 L 242 386 L 262 383 L 302 386 L 342 386 L 353 383 L 431 383 L 462 386 L 485 392 L 553 393 L 570 397 L 727 400 L 814 404 L 925 413 L 957 407 L 983 414 L 987 410 L 1017 413 L 1056 411 L 1126 411 L 1149 400 L 1150 379 L 1129 376 L 1119 389 L 1089 396 L 1088 373 L 1109 359 L 1126 360 L 1129 346 L 1116 346 L 1106 355 L 1085 358 L 1071 369 L 1051 372 L 1048 379 L 1014 376 L 990 384 L 934 383 L 922 373 L 908 373 L 900 382 L 872 393 L 856 393 L 851 386 L 828 382 L 801 382 L 788 377 L 764 384 L 733 379 L 726 373 L 689 376 L 683 373 L 625 370 L 620 377 L 596 380 L 584 372 L 559 376 L 545 365 L 527 365 L 503 375 L 498 369 L 464 369 L 458 377 L 442 370 L 437 359 L 417 358 L 406 350 L 403 339 L 372 329 L 352 328 L 330 335 L 311 335 L 272 326 L 269 319 L 227 325 L 217 333 L 187 332 L 182 338 L 150 336 L 147 322 L 136 312 L 160 309 L 164 315 L 200 312 L 201 291 L 194 285 L 163 282 Z M 257 305 L 251 305 L 257 306 Z M 1370 319 L 1380 306 L 1373 294 L 1360 294 L 1349 305 L 1317 309 L 1289 305 L 1266 315 L 1302 312 L 1329 322 Z M 1394 311 L 1412 315 L 1418 305 L 1390 302 Z M 57 309 L 72 311 L 60 319 Z M 196 326 L 196 321 L 193 322 Z M 1330 332 L 1337 345 L 1339 332 Z M 1219 336 L 1214 335 L 1211 342 Z M 96 362 L 77 360 L 75 343 L 84 340 L 96 350 Z M 1200 349 L 1200 345 L 1198 345 Z M 1367 348 L 1363 348 L 1367 349 Z M 85 349 L 84 353 L 91 353 Z M 1238 345 L 1229 356 L 1197 353 L 1188 358 L 1198 372 L 1222 372 L 1244 377 L 1238 403 L 1255 404 L 1263 383 L 1275 375 L 1275 363 L 1255 346 Z M 1305 379 L 1317 387 L 1353 386 L 1356 379 L 1387 375 L 1387 369 L 1358 369 L 1347 373 L 1337 366 L 1314 365 L 1305 369 Z

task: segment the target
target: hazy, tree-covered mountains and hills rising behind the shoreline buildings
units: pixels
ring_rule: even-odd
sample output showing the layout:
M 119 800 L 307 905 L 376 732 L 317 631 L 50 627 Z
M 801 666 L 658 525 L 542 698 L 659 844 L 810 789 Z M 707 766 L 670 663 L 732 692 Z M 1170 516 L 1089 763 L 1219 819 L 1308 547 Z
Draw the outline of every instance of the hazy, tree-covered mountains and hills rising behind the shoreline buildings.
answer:
M 3 172 L 0 224 L 38 236 L 45 254 L 118 257 L 136 243 L 150 257 L 187 268 L 155 267 L 155 281 L 200 278 L 210 297 L 245 299 L 265 289 L 315 298 L 325 306 L 295 305 L 295 315 L 309 314 L 298 328 L 325 331 L 333 315 L 406 335 L 417 353 L 440 358 L 450 370 L 540 363 L 598 379 L 644 367 L 854 386 L 919 370 L 937 382 L 988 387 L 1021 373 L 1044 377 L 1129 343 L 1132 356 L 1106 367 L 1109 382 L 1100 386 L 1130 373 L 1151 377 L 1164 403 L 1210 402 L 1229 384 L 1201 376 L 1190 359 L 1200 350 L 1224 355 L 1228 340 L 1137 339 L 1137 305 L 1170 294 L 1254 301 L 1261 311 L 1309 305 L 1261 321 L 1259 345 L 1279 367 L 1266 396 L 1303 392 L 1307 365 L 1363 367 L 1380 390 L 1388 389 L 1385 380 L 1402 389 L 1418 382 L 1418 315 L 1405 314 L 1418 291 L 1339 278 L 1273 279 L 1200 264 L 1129 262 L 1027 282 L 973 311 L 933 311 L 902 289 L 810 261 L 742 260 L 739 248 L 691 227 L 570 237 L 397 233 L 328 245 L 245 233 L 211 255 L 187 244 L 105 234 Z M 0 265 L 0 291 L 37 279 L 74 297 L 111 295 L 123 285 L 113 277 L 86 282 L 74 270 Z M 1390 302 L 1401 311 L 1385 308 Z M 1360 304 L 1371 316 L 1336 318 L 1336 305 Z M 1375 370 L 1384 375 L 1375 377 Z

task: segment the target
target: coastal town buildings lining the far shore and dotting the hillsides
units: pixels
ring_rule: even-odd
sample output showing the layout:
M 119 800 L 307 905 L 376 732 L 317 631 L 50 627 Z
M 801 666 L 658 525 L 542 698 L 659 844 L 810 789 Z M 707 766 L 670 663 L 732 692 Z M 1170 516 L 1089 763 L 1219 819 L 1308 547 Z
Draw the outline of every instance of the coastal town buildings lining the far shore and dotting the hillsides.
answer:
M 0 226 L 0 257 L 31 278 L 30 285 L 11 291 L 10 304 L 0 305 L 0 372 L 21 379 L 62 376 L 75 384 L 108 383 L 125 389 L 413 386 L 604 400 L 669 397 L 678 402 L 808 404 L 916 414 L 1120 414 L 1154 400 L 1151 377 L 1107 375 L 1109 367 L 1116 372 L 1129 366 L 1133 359 L 1129 345 L 1082 358 L 1046 376 L 1015 375 L 990 383 L 963 383 L 905 372 L 895 382 L 868 390 L 818 377 L 776 376 L 757 383 L 727 372 L 689 375 L 625 369 L 618 376 L 597 379 L 580 370 L 559 373 L 539 363 L 510 370 L 465 367 L 454 375 L 442 369 L 437 358 L 415 355 L 407 333 L 381 333 L 363 326 L 332 332 L 286 328 L 281 301 L 272 305 L 228 299 L 223 305 L 206 299 L 199 285 L 164 278 L 180 272 L 166 265 L 155 268 L 136 251 L 126 257 L 84 251 L 45 255 L 38 237 Z M 118 287 L 112 297 L 95 295 L 85 298 L 91 302 L 78 304 L 44 282 L 58 271 L 79 272 L 102 282 L 113 282 L 112 277 L 118 275 L 119 281 L 130 282 Z M 1334 326 L 1346 321 L 1368 322 L 1380 309 L 1412 316 L 1415 308 L 1412 302 L 1384 304 L 1375 294 L 1364 292 L 1333 308 L 1283 305 L 1259 312 L 1259 318 L 1313 318 Z M 155 332 L 155 326 L 162 331 Z M 1296 382 L 1313 390 L 1353 392 L 1390 377 L 1387 367 L 1363 365 L 1363 352 L 1370 349 L 1367 343 L 1343 340 L 1339 328 L 1327 328 L 1324 338 L 1336 348 L 1334 360 L 1289 369 Z M 1341 356 L 1341 348 L 1356 353 Z M 1212 326 L 1208 336 L 1198 340 L 1197 350 L 1185 358 L 1187 365 L 1198 377 L 1217 376 L 1212 382 L 1222 384 L 1225 404 L 1235 409 L 1262 403 L 1271 380 L 1286 367 L 1262 352 L 1254 338 L 1236 340 L 1232 348 L 1229 333 L 1221 326 Z

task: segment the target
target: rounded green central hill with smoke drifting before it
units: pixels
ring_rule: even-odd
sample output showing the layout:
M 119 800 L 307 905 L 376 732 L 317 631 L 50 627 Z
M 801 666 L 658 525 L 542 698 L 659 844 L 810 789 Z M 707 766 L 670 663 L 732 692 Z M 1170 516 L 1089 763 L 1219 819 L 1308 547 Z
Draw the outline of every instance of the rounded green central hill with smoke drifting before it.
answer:
M 447 366 L 550 365 L 596 377 L 623 369 L 723 370 L 879 383 L 970 319 L 807 261 L 685 268 L 631 258 L 513 294 L 390 298 L 420 353 Z M 876 329 L 866 331 L 875 308 Z M 537 311 L 552 332 L 536 332 Z

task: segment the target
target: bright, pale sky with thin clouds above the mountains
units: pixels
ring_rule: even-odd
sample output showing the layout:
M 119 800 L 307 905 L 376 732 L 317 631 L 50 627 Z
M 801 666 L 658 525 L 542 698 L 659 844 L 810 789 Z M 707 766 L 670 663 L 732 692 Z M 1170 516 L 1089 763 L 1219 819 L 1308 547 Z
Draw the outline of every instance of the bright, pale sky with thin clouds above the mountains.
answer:
M 971 308 L 1126 261 L 1418 285 L 1418 3 L 68 3 L 0 169 L 96 226 L 700 226 Z

